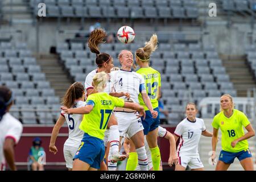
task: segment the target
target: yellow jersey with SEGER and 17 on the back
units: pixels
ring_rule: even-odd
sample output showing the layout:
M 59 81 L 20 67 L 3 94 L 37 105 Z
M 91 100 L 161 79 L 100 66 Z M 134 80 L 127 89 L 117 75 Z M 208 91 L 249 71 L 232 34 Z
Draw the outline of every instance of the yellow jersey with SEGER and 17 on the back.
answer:
M 86 105 L 92 105 L 93 109 L 89 114 L 84 114 L 79 128 L 88 135 L 103 140 L 112 110 L 115 106 L 123 107 L 125 101 L 109 96 L 108 93 L 100 92 L 90 94 L 86 100 Z

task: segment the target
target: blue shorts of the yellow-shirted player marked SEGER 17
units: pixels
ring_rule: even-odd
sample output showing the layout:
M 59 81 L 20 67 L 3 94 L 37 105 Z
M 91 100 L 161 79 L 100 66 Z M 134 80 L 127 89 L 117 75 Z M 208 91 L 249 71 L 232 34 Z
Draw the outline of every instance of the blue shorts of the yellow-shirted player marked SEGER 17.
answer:
M 79 150 L 77 150 L 73 159 L 82 160 L 83 162 L 90 164 L 90 167 L 100 169 L 104 156 L 105 147 L 103 140 L 91 137 L 85 133 L 81 140 Z

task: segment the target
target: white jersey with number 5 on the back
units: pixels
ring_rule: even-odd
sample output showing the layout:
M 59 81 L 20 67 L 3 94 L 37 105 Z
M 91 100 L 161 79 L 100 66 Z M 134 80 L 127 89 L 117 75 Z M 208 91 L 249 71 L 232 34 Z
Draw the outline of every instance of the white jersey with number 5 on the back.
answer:
M 86 102 L 78 101 L 75 103 L 73 108 L 84 107 Z M 68 139 L 64 143 L 64 146 L 71 147 L 79 147 L 81 144 L 82 137 L 84 135 L 84 131 L 79 129 L 79 125 L 82 122 L 82 114 L 63 114 L 61 111 L 61 115 L 65 117 L 68 124 Z

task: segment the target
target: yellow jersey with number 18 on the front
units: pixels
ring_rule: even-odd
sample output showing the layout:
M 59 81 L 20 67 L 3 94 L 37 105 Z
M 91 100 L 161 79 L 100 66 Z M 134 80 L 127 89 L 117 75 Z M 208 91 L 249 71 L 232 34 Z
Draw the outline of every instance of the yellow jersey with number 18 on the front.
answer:
M 240 152 L 246 150 L 249 145 L 247 140 L 242 140 L 236 144 L 236 147 L 232 147 L 231 143 L 237 138 L 245 135 L 243 127 L 250 124 L 246 115 L 241 111 L 234 109 L 230 118 L 225 117 L 224 112 L 218 113 L 212 122 L 214 129 L 221 129 L 221 146 L 222 150 L 227 152 Z

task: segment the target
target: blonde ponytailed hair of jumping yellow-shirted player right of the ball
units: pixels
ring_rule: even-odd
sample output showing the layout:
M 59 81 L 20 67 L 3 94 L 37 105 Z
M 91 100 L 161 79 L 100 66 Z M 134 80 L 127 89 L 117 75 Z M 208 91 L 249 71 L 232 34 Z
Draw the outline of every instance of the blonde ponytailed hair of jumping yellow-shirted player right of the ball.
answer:
M 144 47 L 138 48 L 135 56 L 141 61 L 149 61 L 150 55 L 158 48 L 158 36 L 153 34 L 150 41 L 145 43 Z

